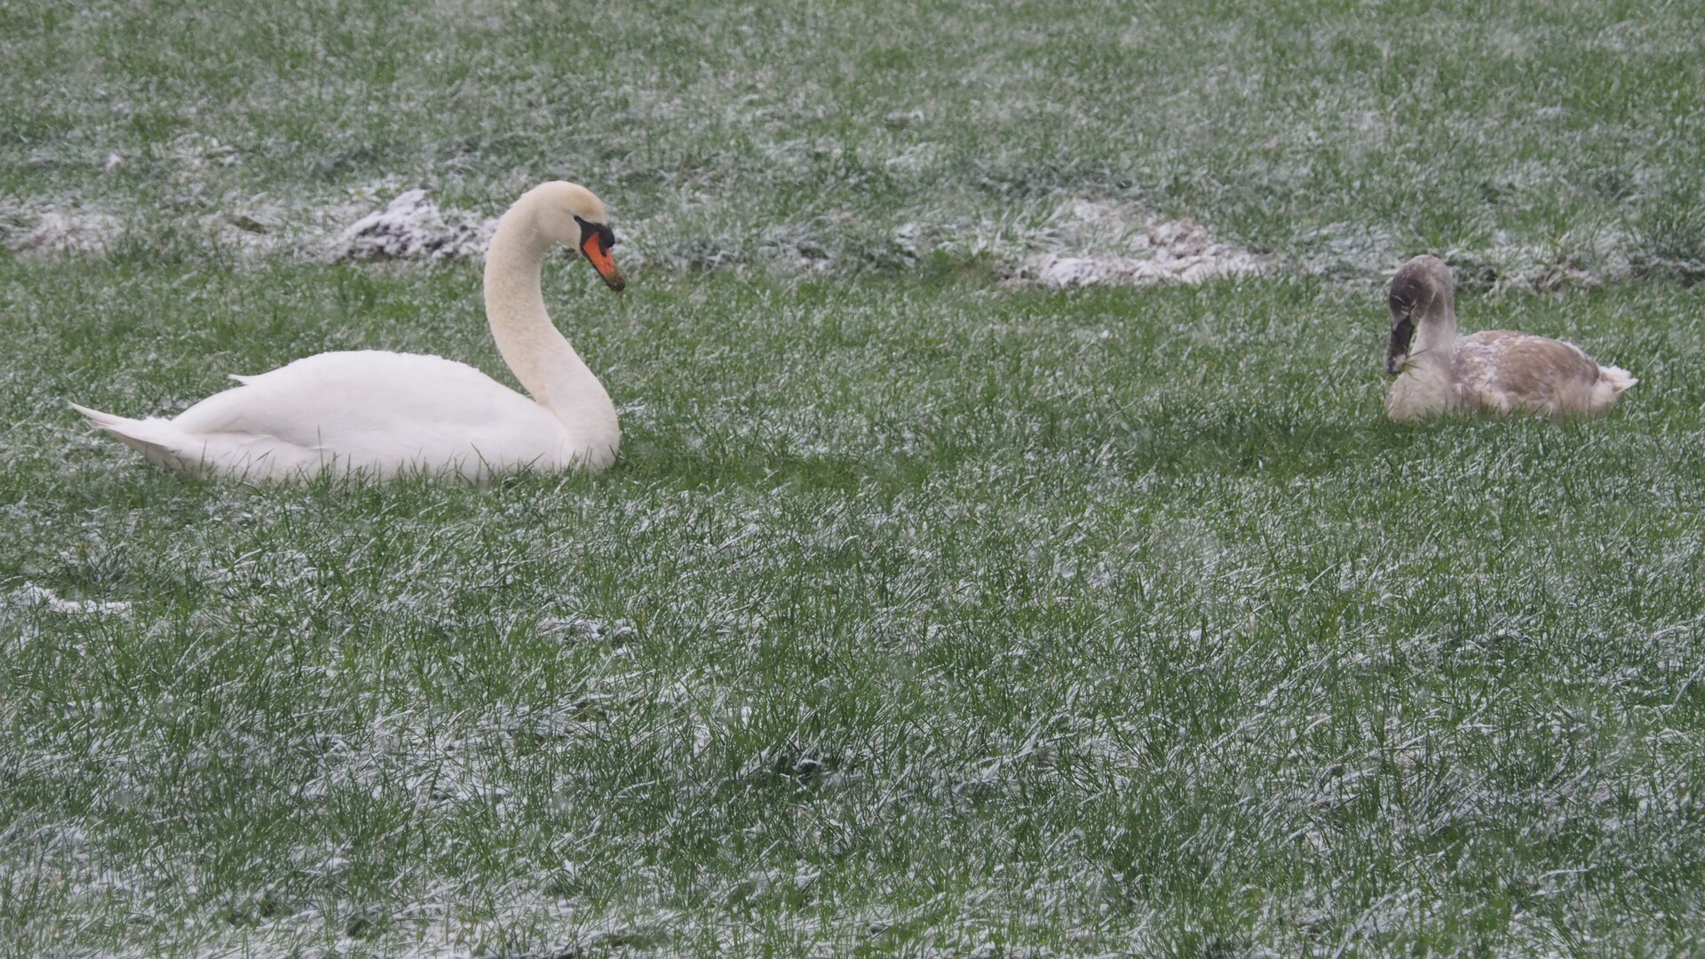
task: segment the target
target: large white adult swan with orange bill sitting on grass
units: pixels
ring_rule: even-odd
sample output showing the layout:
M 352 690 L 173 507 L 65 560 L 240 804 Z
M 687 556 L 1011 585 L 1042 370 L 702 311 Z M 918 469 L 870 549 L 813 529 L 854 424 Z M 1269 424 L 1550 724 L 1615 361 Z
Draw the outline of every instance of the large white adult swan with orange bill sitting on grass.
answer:
M 551 324 L 539 290 L 556 242 L 578 246 L 612 290 L 626 283 L 610 258 L 604 203 L 583 186 L 535 186 L 498 220 L 486 251 L 486 317 L 532 399 L 455 360 L 358 350 L 232 377 L 242 386 L 170 420 L 72 408 L 157 466 L 223 478 L 423 471 L 479 481 L 517 469 L 604 469 L 621 444 L 616 406 Z

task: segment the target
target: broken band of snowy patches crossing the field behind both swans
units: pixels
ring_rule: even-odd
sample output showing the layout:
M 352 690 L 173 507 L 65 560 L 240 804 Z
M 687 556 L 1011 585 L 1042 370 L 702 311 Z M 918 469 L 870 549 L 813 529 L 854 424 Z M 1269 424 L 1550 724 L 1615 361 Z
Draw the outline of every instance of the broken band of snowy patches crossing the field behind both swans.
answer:
M 223 162 L 227 154 L 196 155 L 194 164 Z M 191 167 L 194 167 L 191 164 Z M 268 196 L 232 198 L 218 212 L 174 224 L 244 254 L 302 259 L 481 261 L 496 230 L 491 212 L 438 205 L 423 188 L 397 191 L 396 179 L 353 189 L 343 200 L 288 203 Z M 858 273 L 907 268 L 921 256 L 989 256 L 1016 287 L 1144 287 L 1202 283 L 1224 276 L 1301 271 L 1332 280 L 1384 280 L 1405 258 L 1403 242 L 1384 227 L 1328 224 L 1303 230 L 1308 253 L 1291 259 L 1258 256 L 1214 234 L 1192 217 L 1166 218 L 1125 201 L 1071 200 L 1043 212 L 999 222 L 963 222 L 943 212 L 914 217 L 870 242 L 854 235 L 847 215 L 706 234 L 670 213 L 619 218 L 631 266 L 720 270 L 757 264 L 786 275 Z M 104 256 L 126 232 L 159 230 L 111 212 L 78 206 L 0 208 L 0 247 L 20 256 Z M 1623 280 L 1637 271 L 1637 237 L 1618 229 L 1579 229 L 1546 244 L 1497 230 L 1490 242 L 1441 251 L 1465 288 L 1548 292 Z

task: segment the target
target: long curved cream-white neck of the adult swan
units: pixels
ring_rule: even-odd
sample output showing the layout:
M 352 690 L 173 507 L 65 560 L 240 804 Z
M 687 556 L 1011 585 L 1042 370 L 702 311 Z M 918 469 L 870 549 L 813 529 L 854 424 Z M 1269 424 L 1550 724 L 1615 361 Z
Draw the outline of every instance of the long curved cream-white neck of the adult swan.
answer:
M 621 439 L 616 404 L 544 309 L 539 270 L 552 241 L 539 232 L 529 200 L 530 195 L 498 220 L 486 251 L 491 338 L 515 379 L 563 421 L 571 442 L 604 459 Z

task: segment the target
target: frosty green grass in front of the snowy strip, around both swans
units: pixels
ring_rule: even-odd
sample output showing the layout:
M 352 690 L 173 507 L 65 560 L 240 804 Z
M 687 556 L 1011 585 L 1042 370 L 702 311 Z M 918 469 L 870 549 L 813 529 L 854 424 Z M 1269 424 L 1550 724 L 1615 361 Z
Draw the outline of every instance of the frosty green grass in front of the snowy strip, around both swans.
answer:
M 1468 299 L 1645 382 L 1396 427 L 1378 297 L 1306 282 L 585 273 L 624 459 L 491 490 L 58 406 L 500 372 L 472 268 L 0 273 L 0 585 L 133 604 L 3 613 L 20 952 L 1702 945 L 1698 288 Z

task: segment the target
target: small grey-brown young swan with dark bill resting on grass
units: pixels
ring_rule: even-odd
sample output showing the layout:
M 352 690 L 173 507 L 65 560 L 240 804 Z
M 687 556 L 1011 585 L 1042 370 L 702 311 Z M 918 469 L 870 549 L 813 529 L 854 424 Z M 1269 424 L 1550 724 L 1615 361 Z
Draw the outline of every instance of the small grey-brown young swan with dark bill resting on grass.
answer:
M 1456 334 L 1451 268 L 1417 256 L 1391 278 L 1391 340 L 1386 392 L 1393 420 L 1437 413 L 1603 415 L 1640 382 L 1601 367 L 1581 346 L 1509 329 Z M 1410 348 L 1413 340 L 1413 350 Z

